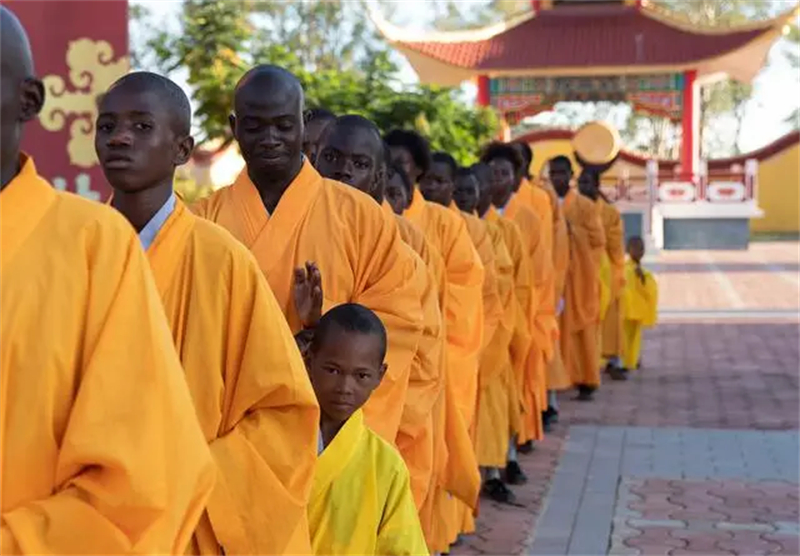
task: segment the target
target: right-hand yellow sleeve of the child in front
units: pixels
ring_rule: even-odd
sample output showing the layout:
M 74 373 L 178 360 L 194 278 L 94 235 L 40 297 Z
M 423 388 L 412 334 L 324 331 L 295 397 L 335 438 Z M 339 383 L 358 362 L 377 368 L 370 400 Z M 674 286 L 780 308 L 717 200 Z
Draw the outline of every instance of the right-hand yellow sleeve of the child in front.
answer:
M 397 466 L 390 481 L 386 506 L 378 530 L 375 554 L 381 556 L 419 556 L 429 554 L 422 526 L 411 495 L 408 471 Z

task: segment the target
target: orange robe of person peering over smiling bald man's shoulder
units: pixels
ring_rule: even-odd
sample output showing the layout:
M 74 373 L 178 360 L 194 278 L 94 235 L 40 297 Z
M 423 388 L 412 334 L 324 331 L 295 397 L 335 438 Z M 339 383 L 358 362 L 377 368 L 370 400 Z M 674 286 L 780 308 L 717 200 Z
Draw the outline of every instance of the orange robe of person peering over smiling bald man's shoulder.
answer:
M 414 252 L 424 328 L 411 366 L 397 448 L 408 466 L 411 491 L 417 509 L 422 507 L 431 485 L 434 465 L 433 412 L 444 388 L 445 328 L 440 308 L 440 280 L 444 277 L 441 255 L 424 234 L 408 220 L 384 210 L 397 222 L 400 236 Z

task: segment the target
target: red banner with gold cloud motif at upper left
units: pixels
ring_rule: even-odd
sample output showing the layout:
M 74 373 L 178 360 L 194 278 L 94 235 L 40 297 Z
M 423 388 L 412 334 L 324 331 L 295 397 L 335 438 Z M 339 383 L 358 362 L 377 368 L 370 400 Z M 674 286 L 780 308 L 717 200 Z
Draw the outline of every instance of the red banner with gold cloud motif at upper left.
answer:
M 37 76 L 44 81 L 39 120 L 23 149 L 59 189 L 106 200 L 94 123 L 99 95 L 128 71 L 127 0 L 3 0 L 25 26 Z

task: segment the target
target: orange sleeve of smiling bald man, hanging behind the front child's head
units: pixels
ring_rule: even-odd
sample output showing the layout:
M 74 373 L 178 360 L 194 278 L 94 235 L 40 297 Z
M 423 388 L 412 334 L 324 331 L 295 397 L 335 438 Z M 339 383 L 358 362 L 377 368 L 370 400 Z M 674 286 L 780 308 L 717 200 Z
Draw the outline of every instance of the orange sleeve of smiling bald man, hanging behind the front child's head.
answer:
M 386 374 L 364 410 L 370 428 L 388 442 L 394 442 L 403 411 L 399 400 L 405 400 L 412 361 L 422 334 L 422 306 L 414 258 L 400 236 L 394 217 L 377 205 L 372 215 L 365 224 L 371 229 L 361 230 L 357 238 L 361 242 L 360 260 L 351 301 L 374 311 L 386 327 L 389 339 Z

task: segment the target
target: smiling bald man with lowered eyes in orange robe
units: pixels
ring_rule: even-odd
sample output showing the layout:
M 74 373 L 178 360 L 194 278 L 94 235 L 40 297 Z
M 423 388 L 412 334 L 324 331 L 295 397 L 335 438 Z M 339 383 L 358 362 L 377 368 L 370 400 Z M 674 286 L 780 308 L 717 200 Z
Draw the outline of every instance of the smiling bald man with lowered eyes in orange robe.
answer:
M 255 255 L 293 333 L 294 270 L 314 261 L 323 309 L 359 303 L 389 331 L 388 371 L 364 406 L 367 425 L 394 443 L 422 332 L 415 262 L 397 224 L 363 193 L 319 175 L 304 159 L 303 89 L 276 66 L 257 66 L 236 87 L 231 128 L 246 168 L 193 210 Z

